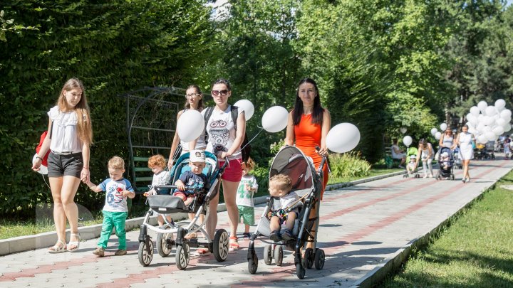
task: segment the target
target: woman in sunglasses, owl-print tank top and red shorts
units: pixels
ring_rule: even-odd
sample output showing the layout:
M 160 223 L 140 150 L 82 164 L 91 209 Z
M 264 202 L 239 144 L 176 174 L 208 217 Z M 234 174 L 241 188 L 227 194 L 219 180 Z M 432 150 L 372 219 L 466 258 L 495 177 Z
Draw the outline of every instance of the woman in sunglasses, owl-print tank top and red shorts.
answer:
M 229 249 L 237 250 L 237 224 L 239 222 L 239 210 L 235 203 L 237 188 L 242 178 L 242 152 L 241 144 L 246 132 L 246 117 L 244 111 L 239 110 L 237 123 L 232 119 L 232 106 L 228 104 L 229 97 L 232 96 L 232 87 L 228 80 L 219 79 L 212 85 L 212 98 L 214 98 L 215 107 L 212 109 L 205 130 L 208 134 L 207 151 L 217 156 L 219 166 L 224 164 L 225 159 L 229 161 L 227 168 L 221 177 L 223 186 L 224 203 L 226 204 L 230 226 Z M 217 186 L 219 189 L 219 186 Z M 214 238 L 217 225 L 217 204 L 219 203 L 219 193 L 209 203 L 209 217 L 207 219 L 206 230 L 211 238 Z M 199 248 L 197 255 L 206 255 L 209 250 Z

